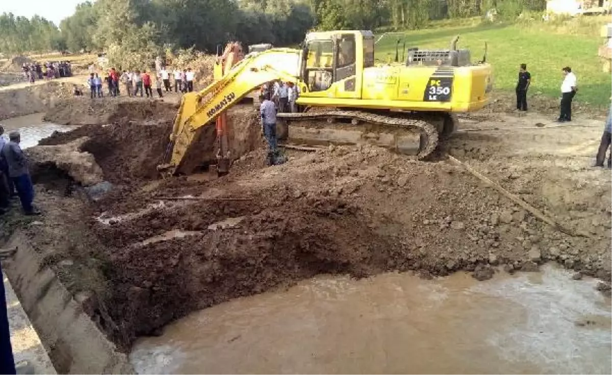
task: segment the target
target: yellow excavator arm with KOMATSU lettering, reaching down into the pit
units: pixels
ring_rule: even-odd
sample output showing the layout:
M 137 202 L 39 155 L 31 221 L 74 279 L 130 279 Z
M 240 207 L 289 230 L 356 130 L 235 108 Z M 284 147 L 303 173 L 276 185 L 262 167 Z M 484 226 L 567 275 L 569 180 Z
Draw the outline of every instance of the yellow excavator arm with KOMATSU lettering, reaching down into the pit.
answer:
M 300 52 L 289 48 L 248 54 L 220 80 L 200 92 L 185 94 L 174 120 L 165 164 L 158 169 L 179 173 L 198 131 L 214 126 L 218 116 L 266 82 L 278 79 L 297 82 L 299 61 Z

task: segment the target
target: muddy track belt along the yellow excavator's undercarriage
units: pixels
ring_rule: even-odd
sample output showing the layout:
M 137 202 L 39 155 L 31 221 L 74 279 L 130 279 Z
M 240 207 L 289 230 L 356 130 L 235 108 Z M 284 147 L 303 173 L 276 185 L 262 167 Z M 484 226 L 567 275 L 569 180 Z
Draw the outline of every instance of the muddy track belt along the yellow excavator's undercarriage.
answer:
M 365 122 L 382 127 L 397 128 L 401 130 L 409 130 L 420 134 L 419 150 L 416 157 L 419 160 L 427 158 L 434 152 L 438 146 L 438 128 L 435 125 L 422 119 L 406 119 L 398 116 L 385 116 L 381 114 L 368 113 L 364 111 L 346 111 L 346 110 L 329 110 L 329 111 L 309 111 L 307 113 L 278 113 L 277 117 L 285 119 L 288 122 L 293 121 L 309 121 L 309 120 L 324 120 L 327 122 L 337 119 L 350 119 L 353 124 L 356 122 Z M 355 128 L 360 125 L 354 125 Z

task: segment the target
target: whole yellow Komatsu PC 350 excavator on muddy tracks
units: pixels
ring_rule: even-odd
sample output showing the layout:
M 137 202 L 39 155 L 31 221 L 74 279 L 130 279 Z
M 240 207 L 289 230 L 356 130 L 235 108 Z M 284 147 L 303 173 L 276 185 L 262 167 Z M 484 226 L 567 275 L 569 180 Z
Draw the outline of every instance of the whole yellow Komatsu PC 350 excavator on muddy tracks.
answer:
M 491 65 L 472 63 L 469 50 L 408 49 L 405 62 L 377 62 L 371 31 L 310 32 L 301 50 L 271 48 L 249 53 L 200 92 L 185 94 L 160 171 L 182 171 L 198 133 L 264 83 L 293 82 L 301 113 L 279 113 L 289 139 L 306 144 L 368 143 L 426 158 L 439 136 L 457 127 L 454 113 L 476 111 L 488 101 Z M 396 54 L 397 56 L 397 54 Z M 218 125 L 217 125 L 218 127 Z M 226 142 L 225 142 L 226 144 Z M 219 145 L 217 158 L 228 165 Z

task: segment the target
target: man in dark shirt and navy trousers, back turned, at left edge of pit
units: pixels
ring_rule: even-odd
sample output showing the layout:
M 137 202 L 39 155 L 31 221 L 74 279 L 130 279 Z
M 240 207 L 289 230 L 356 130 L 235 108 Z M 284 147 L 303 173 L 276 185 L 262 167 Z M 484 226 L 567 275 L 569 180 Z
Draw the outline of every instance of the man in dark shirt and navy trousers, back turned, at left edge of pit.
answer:
M 9 143 L 2 147 L 2 157 L 9 165 L 9 177 L 15 184 L 23 211 L 26 215 L 40 215 L 40 211 L 32 206 L 34 187 L 28 171 L 28 160 L 19 146 L 20 141 L 19 132 L 10 132 Z

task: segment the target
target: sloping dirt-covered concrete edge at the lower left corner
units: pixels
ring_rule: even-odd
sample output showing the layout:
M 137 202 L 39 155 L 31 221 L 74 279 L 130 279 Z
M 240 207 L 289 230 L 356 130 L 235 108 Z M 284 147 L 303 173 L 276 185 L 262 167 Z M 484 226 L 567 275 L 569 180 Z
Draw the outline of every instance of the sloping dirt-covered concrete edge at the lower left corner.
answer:
M 58 374 L 135 374 L 127 355 L 84 313 L 22 232 L 15 232 L 6 248 L 17 253 L 3 263 L 4 272 Z

